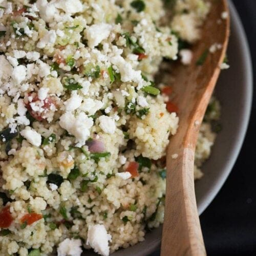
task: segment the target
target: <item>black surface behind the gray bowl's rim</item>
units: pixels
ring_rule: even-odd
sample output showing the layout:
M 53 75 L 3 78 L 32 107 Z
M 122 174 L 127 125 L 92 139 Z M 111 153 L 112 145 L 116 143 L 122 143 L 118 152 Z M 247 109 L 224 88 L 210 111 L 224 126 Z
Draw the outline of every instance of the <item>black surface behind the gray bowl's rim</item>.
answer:
M 256 0 L 233 0 L 256 67 Z M 254 70 L 256 81 L 256 70 Z M 247 135 L 230 176 L 200 217 L 207 255 L 256 255 L 256 92 Z M 159 255 L 155 252 L 152 256 Z

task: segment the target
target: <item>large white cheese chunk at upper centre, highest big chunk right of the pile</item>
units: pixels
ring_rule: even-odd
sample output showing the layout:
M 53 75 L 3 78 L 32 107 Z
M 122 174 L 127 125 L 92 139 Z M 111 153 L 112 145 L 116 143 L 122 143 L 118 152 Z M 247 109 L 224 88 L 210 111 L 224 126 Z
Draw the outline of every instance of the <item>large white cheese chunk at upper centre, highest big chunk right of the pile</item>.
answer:
M 102 40 L 109 37 L 112 26 L 106 23 L 95 24 L 86 29 L 86 36 L 90 48 L 97 46 Z

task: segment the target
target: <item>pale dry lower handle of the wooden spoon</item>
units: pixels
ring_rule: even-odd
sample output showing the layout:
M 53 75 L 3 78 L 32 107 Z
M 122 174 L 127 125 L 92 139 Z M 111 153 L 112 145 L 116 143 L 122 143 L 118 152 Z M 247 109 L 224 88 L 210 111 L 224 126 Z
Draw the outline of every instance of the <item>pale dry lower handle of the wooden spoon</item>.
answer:
M 163 230 L 162 256 L 206 255 L 197 211 L 193 169 L 193 148 L 183 148 L 177 159 L 170 160 L 167 170 L 170 179 L 167 180 L 166 190 L 170 191 L 169 200 L 172 203 L 165 206 L 165 212 L 169 214 L 164 219 L 165 227 L 168 228 Z M 186 175 L 180 175 L 185 171 Z M 177 190 L 177 187 L 180 189 Z

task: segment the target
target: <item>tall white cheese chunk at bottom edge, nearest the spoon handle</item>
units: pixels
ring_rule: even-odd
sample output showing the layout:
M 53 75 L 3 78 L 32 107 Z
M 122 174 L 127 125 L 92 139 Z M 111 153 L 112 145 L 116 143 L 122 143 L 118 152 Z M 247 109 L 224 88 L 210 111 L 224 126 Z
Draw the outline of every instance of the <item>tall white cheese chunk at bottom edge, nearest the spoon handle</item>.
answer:
M 111 239 L 111 234 L 106 231 L 104 225 L 89 226 L 86 244 L 90 245 L 96 253 L 108 256 L 110 254 L 109 241 Z

